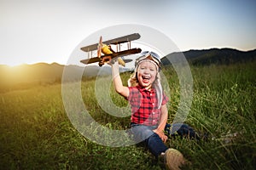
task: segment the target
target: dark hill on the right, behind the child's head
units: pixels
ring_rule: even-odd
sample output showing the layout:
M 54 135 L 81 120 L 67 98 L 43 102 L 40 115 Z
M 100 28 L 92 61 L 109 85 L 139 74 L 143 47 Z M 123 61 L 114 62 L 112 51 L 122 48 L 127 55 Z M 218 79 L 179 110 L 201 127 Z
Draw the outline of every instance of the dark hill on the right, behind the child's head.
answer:
M 163 65 L 170 65 L 172 58 L 178 58 L 180 54 L 192 65 L 230 65 L 238 62 L 248 62 L 256 59 L 256 49 L 243 52 L 232 48 L 211 48 L 202 50 L 189 50 L 180 53 L 168 54 L 162 58 Z

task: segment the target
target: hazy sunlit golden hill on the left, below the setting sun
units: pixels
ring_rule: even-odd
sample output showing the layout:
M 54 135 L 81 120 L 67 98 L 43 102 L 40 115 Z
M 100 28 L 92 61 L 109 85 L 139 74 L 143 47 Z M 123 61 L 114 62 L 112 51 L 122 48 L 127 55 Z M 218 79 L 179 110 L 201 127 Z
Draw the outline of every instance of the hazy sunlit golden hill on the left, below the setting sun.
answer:
M 59 65 L 57 63 L 38 63 L 14 67 L 0 65 L 0 92 L 30 88 L 37 84 L 47 85 L 61 82 L 64 69 L 68 71 L 68 75 L 71 78 L 78 77 L 80 74 L 84 78 L 111 74 L 111 68 L 109 66 L 99 67 L 97 65 L 87 65 L 84 67 L 78 65 Z

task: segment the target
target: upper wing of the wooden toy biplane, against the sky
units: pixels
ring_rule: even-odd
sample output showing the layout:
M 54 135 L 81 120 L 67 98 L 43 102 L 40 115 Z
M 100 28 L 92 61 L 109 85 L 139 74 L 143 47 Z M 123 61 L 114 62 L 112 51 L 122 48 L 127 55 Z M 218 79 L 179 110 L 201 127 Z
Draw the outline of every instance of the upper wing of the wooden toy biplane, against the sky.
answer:
M 102 42 L 104 44 L 119 44 L 119 43 L 124 43 L 124 42 L 131 42 L 133 40 L 137 40 L 139 39 L 141 36 L 139 33 L 134 33 L 134 34 L 130 34 L 130 35 L 127 35 L 127 36 L 124 36 L 124 37 L 118 37 L 118 38 L 114 38 L 112 40 L 108 40 L 108 41 L 105 41 L 105 42 Z M 93 50 L 96 50 L 98 47 L 98 43 L 95 43 L 95 44 L 92 44 L 92 45 L 89 45 L 89 46 L 86 46 L 86 47 L 83 47 L 81 48 L 81 50 L 83 50 L 84 52 L 89 52 L 89 51 L 93 51 Z

